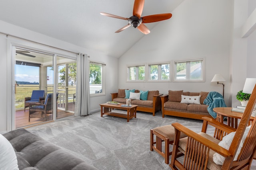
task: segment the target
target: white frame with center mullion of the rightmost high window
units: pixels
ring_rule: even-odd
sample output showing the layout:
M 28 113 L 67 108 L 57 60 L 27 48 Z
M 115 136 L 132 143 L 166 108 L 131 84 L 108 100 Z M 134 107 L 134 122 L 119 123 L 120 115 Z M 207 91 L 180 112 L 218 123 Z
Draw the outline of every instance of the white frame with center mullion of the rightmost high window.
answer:
M 188 79 L 190 78 L 190 64 L 191 62 L 201 61 L 201 77 L 202 79 Z M 186 71 L 186 79 L 176 79 L 177 77 L 177 63 L 187 63 L 186 64 L 186 70 L 189 70 L 189 72 Z M 198 59 L 186 59 L 186 60 L 175 60 L 172 62 L 172 82 L 205 82 L 205 59 L 204 58 L 198 58 Z

